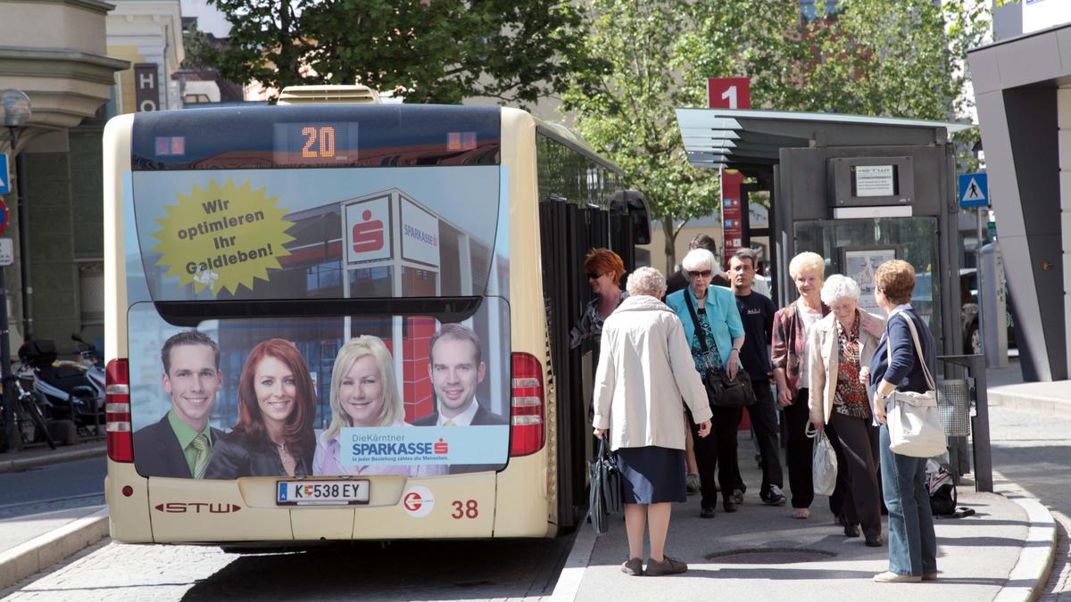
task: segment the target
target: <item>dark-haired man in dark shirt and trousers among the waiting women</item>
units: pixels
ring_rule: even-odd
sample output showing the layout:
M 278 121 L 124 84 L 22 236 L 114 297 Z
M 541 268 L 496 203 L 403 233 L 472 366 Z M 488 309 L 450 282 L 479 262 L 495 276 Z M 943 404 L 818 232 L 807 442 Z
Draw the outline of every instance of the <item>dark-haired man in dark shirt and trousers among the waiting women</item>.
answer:
M 755 281 L 755 252 L 737 251 L 729 259 L 729 279 L 737 308 L 743 321 L 744 340 L 740 362 L 755 391 L 755 405 L 748 408 L 755 440 L 763 461 L 763 486 L 758 496 L 770 506 L 785 503 L 782 493 L 781 460 L 778 454 L 778 418 L 773 392 L 770 390 L 770 352 L 767 345 L 773 335 L 773 314 L 778 308 L 769 297 L 752 290 Z

